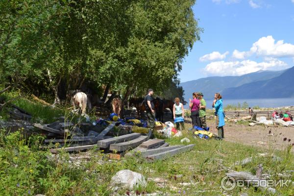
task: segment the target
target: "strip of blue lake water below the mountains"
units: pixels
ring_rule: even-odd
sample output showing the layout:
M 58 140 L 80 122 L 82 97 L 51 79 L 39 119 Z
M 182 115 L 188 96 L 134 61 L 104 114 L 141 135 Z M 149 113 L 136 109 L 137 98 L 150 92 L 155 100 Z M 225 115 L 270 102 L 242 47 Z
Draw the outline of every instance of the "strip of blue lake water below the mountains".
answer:
M 212 108 L 212 99 L 205 99 L 207 108 Z M 189 100 L 187 100 L 189 101 Z M 226 105 L 238 105 L 247 102 L 249 107 L 259 106 L 259 107 L 283 107 L 283 106 L 293 106 L 294 98 L 255 98 L 255 99 L 223 99 L 223 106 Z M 189 109 L 189 104 L 184 105 L 185 109 Z

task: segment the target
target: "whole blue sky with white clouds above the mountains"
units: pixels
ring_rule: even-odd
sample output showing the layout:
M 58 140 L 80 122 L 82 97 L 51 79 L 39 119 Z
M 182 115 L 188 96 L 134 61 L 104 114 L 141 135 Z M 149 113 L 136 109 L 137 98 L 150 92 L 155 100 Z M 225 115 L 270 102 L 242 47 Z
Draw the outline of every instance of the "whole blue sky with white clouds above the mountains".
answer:
M 203 32 L 181 82 L 294 66 L 294 0 L 196 0 L 193 12 Z

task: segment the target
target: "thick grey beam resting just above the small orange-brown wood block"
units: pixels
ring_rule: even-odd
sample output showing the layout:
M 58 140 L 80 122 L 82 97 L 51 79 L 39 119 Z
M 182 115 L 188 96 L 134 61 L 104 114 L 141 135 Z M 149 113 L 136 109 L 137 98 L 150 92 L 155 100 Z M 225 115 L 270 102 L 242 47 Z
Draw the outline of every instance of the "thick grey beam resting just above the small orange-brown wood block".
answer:
M 117 143 L 117 144 L 111 144 L 109 149 L 110 150 L 117 150 L 119 152 L 138 147 L 140 144 L 148 140 L 148 136 L 140 136 L 134 140 L 130 140 L 127 142 Z

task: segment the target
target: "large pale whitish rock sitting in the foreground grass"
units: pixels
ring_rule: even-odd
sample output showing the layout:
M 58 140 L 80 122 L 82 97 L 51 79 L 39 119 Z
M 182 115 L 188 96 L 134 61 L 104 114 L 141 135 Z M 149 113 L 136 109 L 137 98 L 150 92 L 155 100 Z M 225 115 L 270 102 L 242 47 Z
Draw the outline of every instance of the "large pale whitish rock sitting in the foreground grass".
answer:
M 141 173 L 130 170 L 121 170 L 117 172 L 110 181 L 112 187 L 119 186 L 123 189 L 133 190 L 138 184 L 146 187 L 147 183 Z

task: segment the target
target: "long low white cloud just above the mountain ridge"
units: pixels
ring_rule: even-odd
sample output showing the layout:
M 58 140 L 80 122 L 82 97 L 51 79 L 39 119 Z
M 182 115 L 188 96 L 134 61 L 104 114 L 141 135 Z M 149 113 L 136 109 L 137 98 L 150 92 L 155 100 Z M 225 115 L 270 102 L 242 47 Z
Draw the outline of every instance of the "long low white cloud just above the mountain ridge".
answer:
M 278 59 L 268 59 L 267 62 L 257 63 L 251 60 L 244 61 L 216 61 L 209 63 L 204 68 L 208 75 L 243 75 L 246 73 L 257 72 L 259 70 L 278 70 L 288 68 L 288 64 Z

